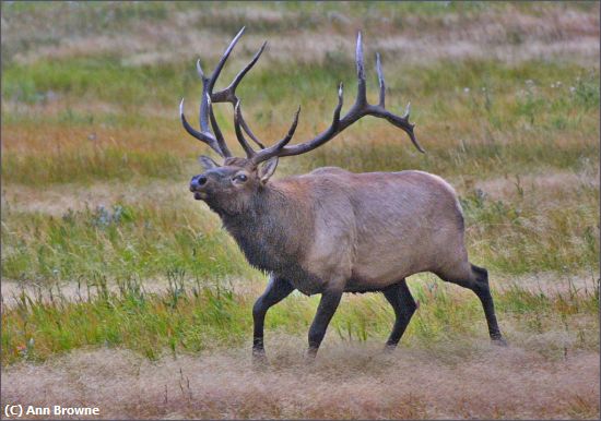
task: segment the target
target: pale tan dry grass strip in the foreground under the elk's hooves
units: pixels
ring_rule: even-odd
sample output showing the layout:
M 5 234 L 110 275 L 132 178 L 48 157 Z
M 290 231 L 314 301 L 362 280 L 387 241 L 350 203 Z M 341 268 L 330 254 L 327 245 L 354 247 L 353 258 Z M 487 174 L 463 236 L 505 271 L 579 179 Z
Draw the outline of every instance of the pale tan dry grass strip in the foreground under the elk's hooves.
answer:
M 270 338 L 270 364 L 247 349 L 150 362 L 129 351 L 79 351 L 3 370 L 2 402 L 96 406 L 103 418 L 599 417 L 599 353 L 550 360 L 488 342 L 446 354 L 337 344 L 313 365 L 300 339 Z

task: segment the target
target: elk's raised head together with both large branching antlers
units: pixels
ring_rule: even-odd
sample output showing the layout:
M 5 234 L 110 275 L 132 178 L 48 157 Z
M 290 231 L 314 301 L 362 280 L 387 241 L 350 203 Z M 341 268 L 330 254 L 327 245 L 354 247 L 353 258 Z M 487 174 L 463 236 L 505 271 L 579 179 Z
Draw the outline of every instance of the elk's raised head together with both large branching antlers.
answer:
M 207 156 L 201 156 L 199 158 L 201 165 L 205 169 L 205 172 L 192 177 L 192 180 L 190 181 L 190 191 L 195 194 L 196 200 L 205 201 L 211 208 L 220 214 L 243 213 L 251 203 L 252 197 L 264 189 L 269 178 L 273 175 L 275 168 L 278 167 L 278 159 L 280 157 L 300 155 L 313 151 L 333 139 L 364 116 L 375 116 L 388 120 L 393 125 L 405 131 L 415 147 L 420 152 L 424 152 L 413 133 L 414 124 L 409 122 L 410 105 L 408 104 L 405 112 L 402 117 L 392 115 L 385 108 L 386 85 L 381 70 L 380 56 L 378 53 L 376 55 L 376 71 L 379 82 L 379 103 L 377 105 L 367 103 L 361 33 L 357 35 L 355 57 L 358 81 L 357 97 L 355 104 L 351 107 L 346 115 L 343 117 L 340 115 L 343 104 L 343 86 L 341 83 L 338 87 L 338 105 L 333 112 L 332 123 L 328 129 L 313 140 L 295 145 L 288 145 L 298 124 L 298 116 L 300 112 L 300 108 L 298 108 L 286 135 L 272 146 L 266 147 L 263 142 L 257 139 L 244 120 L 240 99 L 236 95 L 236 87 L 246 73 L 259 60 L 259 57 L 266 48 L 267 41 L 263 43 L 252 60 L 234 77 L 229 86 L 216 93 L 213 92 L 215 82 L 217 81 L 229 53 L 234 49 L 238 39 L 241 37 L 244 31 L 245 28 L 243 27 L 234 37 L 210 76 L 207 76 L 202 71 L 200 60 L 197 61 L 197 71 L 202 81 L 202 97 L 200 101 L 199 119 L 200 131 L 193 129 L 188 123 L 184 115 L 184 99 L 181 99 L 179 105 L 181 123 L 184 124 L 186 131 L 199 141 L 208 144 L 224 159 L 223 165 L 220 166 Z M 235 133 L 238 142 L 246 153 L 245 158 L 232 156 L 213 113 L 212 105 L 216 103 L 232 104 L 234 108 Z M 258 151 L 252 148 L 250 143 L 247 141 L 245 133 L 252 140 L 252 142 L 255 142 L 255 144 L 257 144 L 259 147 Z

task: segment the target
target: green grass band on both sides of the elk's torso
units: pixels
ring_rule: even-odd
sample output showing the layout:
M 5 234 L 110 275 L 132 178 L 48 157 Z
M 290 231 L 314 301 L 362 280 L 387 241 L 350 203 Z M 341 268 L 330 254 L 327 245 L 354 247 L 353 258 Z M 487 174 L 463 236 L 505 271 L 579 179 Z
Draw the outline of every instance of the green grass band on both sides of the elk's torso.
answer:
M 505 200 L 474 189 L 461 195 L 472 260 L 507 274 L 593 270 L 599 264 L 598 189 L 514 183 Z M 257 276 L 214 215 L 197 203 L 177 204 L 177 195 L 139 189 L 143 199 L 62 216 L 12 209 L 14 204 L 7 202 L 3 276 L 37 281 L 85 279 L 96 273 L 154 277 L 170 266 L 200 277 Z M 557 197 L 571 205 L 557 206 Z

